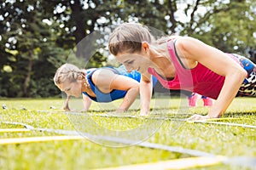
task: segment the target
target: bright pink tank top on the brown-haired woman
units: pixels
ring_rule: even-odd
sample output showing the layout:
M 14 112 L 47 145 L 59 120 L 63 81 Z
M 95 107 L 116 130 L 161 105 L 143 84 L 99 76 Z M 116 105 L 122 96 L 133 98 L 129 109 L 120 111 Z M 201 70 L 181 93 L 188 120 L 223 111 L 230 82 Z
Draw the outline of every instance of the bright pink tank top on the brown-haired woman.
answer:
M 175 67 L 176 76 L 171 81 L 166 80 L 161 77 L 154 68 L 148 68 L 149 74 L 156 77 L 165 88 L 183 89 L 212 99 L 218 98 L 218 94 L 224 85 L 225 78 L 223 76 L 216 74 L 206 66 L 201 65 L 201 63 L 198 63 L 194 69 L 185 69 L 182 62 L 177 57 L 173 41 L 167 42 L 167 49 Z M 235 59 L 235 57 L 233 59 Z M 236 60 L 236 62 L 239 61 Z

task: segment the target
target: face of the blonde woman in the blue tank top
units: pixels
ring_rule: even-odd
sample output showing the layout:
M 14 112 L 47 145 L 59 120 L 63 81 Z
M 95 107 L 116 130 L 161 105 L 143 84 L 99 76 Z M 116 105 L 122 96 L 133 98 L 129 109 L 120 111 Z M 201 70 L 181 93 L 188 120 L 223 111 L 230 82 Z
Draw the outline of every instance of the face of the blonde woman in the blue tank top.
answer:
M 65 92 L 67 96 L 74 96 L 79 98 L 82 94 L 82 83 L 81 81 L 69 82 L 68 80 L 58 85 L 61 91 Z

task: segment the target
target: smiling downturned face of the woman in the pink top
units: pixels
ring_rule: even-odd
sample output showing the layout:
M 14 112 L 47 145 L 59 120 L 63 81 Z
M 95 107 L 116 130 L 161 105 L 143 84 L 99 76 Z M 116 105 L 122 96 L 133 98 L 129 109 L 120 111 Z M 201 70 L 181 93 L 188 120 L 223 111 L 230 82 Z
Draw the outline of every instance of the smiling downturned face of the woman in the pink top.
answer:
M 139 71 L 144 73 L 148 71 L 148 66 L 150 65 L 150 61 L 143 54 L 118 54 L 115 58 L 119 61 L 119 63 L 125 65 L 127 71 Z

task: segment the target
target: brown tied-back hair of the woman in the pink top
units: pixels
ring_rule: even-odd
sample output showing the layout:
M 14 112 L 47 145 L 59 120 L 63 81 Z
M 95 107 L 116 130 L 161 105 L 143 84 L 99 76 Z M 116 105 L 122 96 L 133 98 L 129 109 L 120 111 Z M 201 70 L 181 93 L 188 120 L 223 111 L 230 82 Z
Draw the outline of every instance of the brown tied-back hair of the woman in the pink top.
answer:
M 139 52 L 142 42 L 151 43 L 154 37 L 146 26 L 137 23 L 124 23 L 114 29 L 109 37 L 108 49 L 111 54 Z

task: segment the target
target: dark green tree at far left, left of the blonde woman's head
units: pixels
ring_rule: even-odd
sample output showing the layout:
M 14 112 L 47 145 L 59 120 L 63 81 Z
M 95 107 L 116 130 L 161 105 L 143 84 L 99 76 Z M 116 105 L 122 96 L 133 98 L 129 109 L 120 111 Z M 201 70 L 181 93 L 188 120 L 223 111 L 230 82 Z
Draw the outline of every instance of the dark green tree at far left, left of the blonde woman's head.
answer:
M 5 62 L 5 65 L 9 64 L 12 71 L 3 75 L 1 88 L 5 90 L 0 91 L 0 96 L 46 97 L 56 94 L 53 85 L 41 86 L 52 84 L 54 71 L 65 61 L 65 51 L 55 43 L 58 38 L 55 27 L 42 22 L 44 9 L 39 4 L 40 1 L 2 4 L 6 6 L 6 11 L 2 11 L 1 15 L 6 17 L 4 21 L 7 23 L 4 27 L 6 31 L 3 30 L 1 35 L 1 47 L 5 54 L 9 54 L 5 58 L 9 59 L 9 63 Z

